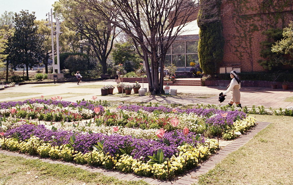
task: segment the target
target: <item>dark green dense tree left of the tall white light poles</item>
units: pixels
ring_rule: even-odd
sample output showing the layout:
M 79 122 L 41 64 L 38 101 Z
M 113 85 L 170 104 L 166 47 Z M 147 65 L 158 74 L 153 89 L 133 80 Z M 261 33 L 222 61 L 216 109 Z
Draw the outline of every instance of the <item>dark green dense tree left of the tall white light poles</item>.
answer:
M 28 80 L 28 68 L 39 64 L 42 55 L 42 38 L 38 36 L 38 26 L 34 23 L 35 13 L 28 11 L 15 13 L 15 33 L 11 41 L 11 63 L 14 68 L 26 68 Z

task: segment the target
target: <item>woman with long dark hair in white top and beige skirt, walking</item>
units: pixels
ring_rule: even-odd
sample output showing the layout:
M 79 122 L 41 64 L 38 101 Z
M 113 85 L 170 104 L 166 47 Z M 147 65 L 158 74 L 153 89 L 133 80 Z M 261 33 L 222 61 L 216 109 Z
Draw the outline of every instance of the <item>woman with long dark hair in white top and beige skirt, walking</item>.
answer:
M 235 102 L 237 107 L 241 107 L 239 90 L 241 80 L 235 71 L 230 72 L 230 77 L 232 78 L 231 83 L 229 84 L 228 89 L 223 93 L 222 96 L 225 96 L 228 92 L 232 91 L 232 97 L 228 105 L 232 106 Z

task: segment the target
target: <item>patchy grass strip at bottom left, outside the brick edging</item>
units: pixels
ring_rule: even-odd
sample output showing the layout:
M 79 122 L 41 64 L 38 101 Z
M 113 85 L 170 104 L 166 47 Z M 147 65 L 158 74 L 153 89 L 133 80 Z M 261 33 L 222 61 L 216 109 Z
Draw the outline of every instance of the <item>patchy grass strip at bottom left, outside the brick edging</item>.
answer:
M 37 177 L 36 177 L 37 176 Z M 6 185 L 146 185 L 143 181 L 122 181 L 100 173 L 0 154 L 0 184 Z

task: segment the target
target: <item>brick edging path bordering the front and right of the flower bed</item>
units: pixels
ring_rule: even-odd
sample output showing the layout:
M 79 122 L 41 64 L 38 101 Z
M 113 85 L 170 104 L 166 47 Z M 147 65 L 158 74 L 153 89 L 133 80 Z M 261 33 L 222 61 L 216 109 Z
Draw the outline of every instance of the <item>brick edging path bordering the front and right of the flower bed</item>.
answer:
M 196 184 L 198 181 L 196 179 L 197 176 L 206 173 L 210 169 L 213 169 L 214 166 L 221 162 L 222 159 L 224 159 L 229 153 L 236 151 L 240 147 L 242 147 L 244 144 L 246 144 L 250 139 L 253 138 L 258 132 L 260 132 L 262 129 L 267 127 L 270 123 L 269 122 L 258 122 L 258 125 L 253 127 L 251 130 L 246 132 L 245 134 L 241 135 L 241 137 L 235 139 L 232 141 L 230 144 L 226 145 L 224 148 L 222 148 L 217 154 L 212 155 L 208 160 L 197 166 L 195 169 L 188 171 L 185 176 L 179 178 L 176 181 L 160 181 L 156 179 L 151 179 L 151 178 L 145 178 L 145 177 L 140 177 L 136 176 L 133 174 L 124 174 L 116 171 L 110 171 L 110 170 L 105 170 L 101 168 L 96 168 L 93 166 L 88 166 L 88 165 L 79 165 L 79 164 L 74 164 L 74 163 L 69 163 L 69 162 L 62 162 L 62 161 L 57 161 L 57 160 L 51 160 L 47 158 L 41 158 L 41 157 L 34 157 L 30 156 L 27 154 L 21 154 L 21 153 L 16 153 L 16 152 L 9 152 L 6 150 L 0 150 L 0 154 L 5 154 L 5 155 L 10 155 L 10 156 L 18 156 L 18 157 L 23 157 L 25 159 L 40 159 L 42 162 L 48 162 L 51 164 L 63 164 L 63 165 L 68 165 L 68 166 L 74 166 L 77 168 L 81 168 L 90 172 L 98 172 L 102 173 L 103 175 L 108 175 L 108 176 L 114 176 L 118 179 L 122 180 L 132 180 L 132 181 L 138 181 L 138 180 L 144 180 L 148 182 L 149 184 L 155 184 L 155 185 L 191 185 L 191 184 Z

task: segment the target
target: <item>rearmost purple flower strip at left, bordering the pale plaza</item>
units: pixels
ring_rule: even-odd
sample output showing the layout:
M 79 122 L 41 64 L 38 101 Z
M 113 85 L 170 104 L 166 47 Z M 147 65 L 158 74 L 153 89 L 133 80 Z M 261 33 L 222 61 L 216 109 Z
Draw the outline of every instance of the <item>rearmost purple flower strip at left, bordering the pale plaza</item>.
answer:
M 0 108 L 1 109 L 10 109 L 11 107 L 15 107 L 17 104 L 18 105 L 24 105 L 27 103 L 27 101 L 29 101 L 30 104 L 32 103 L 42 103 L 42 104 L 46 104 L 46 105 L 59 105 L 61 104 L 63 107 L 80 107 L 80 106 L 84 106 L 90 110 L 93 110 L 95 107 L 100 107 L 100 112 L 104 112 L 104 108 L 101 105 L 94 105 L 91 104 L 87 101 L 81 101 L 79 104 L 74 103 L 74 102 L 69 102 L 69 101 L 59 101 L 59 100 L 42 100 L 42 99 L 37 99 L 37 100 L 25 100 L 23 102 L 18 101 L 18 102 L 1 102 L 0 103 Z M 73 104 L 72 104 L 73 103 Z

